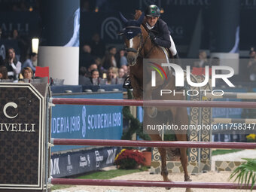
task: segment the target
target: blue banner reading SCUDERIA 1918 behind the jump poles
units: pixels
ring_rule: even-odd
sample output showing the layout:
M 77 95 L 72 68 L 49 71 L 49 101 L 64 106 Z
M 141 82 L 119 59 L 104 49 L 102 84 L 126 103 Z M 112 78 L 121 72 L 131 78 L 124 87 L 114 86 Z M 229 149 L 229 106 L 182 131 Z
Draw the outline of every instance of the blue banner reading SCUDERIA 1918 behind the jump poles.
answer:
M 76 94 L 58 98 L 123 99 L 123 93 Z M 52 138 L 120 139 L 123 133 L 122 106 L 56 105 L 52 115 Z M 84 146 L 54 146 L 53 152 Z

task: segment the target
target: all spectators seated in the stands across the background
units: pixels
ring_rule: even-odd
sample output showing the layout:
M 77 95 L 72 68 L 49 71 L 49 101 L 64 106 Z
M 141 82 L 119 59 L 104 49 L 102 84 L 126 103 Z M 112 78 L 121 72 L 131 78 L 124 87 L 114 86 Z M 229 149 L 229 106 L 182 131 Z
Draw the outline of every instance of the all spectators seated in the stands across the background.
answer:
M 0 28 L 0 39 L 2 31 Z M 17 56 L 16 49 L 8 48 L 5 59 L 0 55 L 0 81 L 20 81 L 31 79 L 35 73 L 35 62 L 37 53 L 28 53 L 29 49 L 14 29 L 10 39 L 20 42 L 20 55 Z M 25 51 L 24 51 L 25 50 Z M 90 42 L 81 44 L 79 63 L 79 84 L 100 85 L 100 84 L 123 84 L 124 79 L 129 76 L 129 66 L 126 59 L 126 50 L 117 49 L 115 46 L 106 47 L 104 41 L 95 33 Z M 24 52 L 24 53 L 23 53 Z M 246 67 L 242 67 L 240 73 L 248 81 L 256 81 L 256 51 L 251 47 Z M 218 66 L 220 59 L 208 58 L 205 51 L 200 51 L 194 67 L 204 68 L 205 66 Z M 240 64 L 241 65 L 241 64 Z M 23 69 L 26 69 L 24 71 Z M 240 68 L 241 69 L 241 68 Z M 31 74 L 30 77 L 27 74 Z M 221 73 L 218 72 L 218 74 Z

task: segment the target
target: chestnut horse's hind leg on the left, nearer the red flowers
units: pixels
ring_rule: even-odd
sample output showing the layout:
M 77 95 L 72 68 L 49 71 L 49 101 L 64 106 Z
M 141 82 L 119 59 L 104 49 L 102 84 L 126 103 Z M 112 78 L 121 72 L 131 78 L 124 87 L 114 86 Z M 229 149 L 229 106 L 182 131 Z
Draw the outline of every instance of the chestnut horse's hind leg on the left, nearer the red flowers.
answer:
M 152 141 L 162 141 L 159 134 L 149 135 Z M 168 178 L 168 170 L 166 167 L 166 149 L 157 148 L 161 156 L 161 175 L 163 176 L 163 181 L 170 181 Z M 169 188 L 168 188 L 169 189 Z

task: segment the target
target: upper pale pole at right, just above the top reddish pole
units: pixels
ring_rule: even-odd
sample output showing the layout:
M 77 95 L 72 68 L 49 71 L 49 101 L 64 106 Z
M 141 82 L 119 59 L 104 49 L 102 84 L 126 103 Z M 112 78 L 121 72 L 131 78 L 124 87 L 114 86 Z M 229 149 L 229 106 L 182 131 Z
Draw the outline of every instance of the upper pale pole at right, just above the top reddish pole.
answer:
M 256 99 L 256 93 L 225 92 L 222 96 L 221 94 L 222 92 L 215 91 L 215 96 L 211 93 L 206 93 L 206 97 L 211 99 Z

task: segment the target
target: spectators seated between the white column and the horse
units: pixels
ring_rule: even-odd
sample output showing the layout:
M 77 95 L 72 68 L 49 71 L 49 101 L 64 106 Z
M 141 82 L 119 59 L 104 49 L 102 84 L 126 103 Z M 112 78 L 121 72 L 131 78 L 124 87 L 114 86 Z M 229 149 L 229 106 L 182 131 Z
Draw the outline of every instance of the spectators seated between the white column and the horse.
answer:
M 81 46 L 79 84 L 123 84 L 129 74 L 126 50 L 106 48 L 104 41 L 95 33 L 92 41 Z

